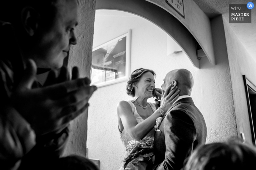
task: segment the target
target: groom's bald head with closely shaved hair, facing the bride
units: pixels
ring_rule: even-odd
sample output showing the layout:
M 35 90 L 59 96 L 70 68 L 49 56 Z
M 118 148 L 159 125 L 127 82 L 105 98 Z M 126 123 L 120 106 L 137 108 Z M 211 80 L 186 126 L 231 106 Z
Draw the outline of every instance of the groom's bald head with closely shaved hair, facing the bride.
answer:
M 194 79 L 190 71 L 186 69 L 176 69 L 167 73 L 162 85 L 162 89 L 165 90 L 170 84 L 178 86 L 180 96 L 190 96 L 192 87 L 194 85 Z

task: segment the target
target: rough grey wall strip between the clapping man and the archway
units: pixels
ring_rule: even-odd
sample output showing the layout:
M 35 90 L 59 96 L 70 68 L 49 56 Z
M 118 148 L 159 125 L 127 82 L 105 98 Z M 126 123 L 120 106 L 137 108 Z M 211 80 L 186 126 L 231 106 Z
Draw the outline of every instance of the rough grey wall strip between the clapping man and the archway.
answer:
M 91 55 L 93 47 L 95 0 L 78 0 L 79 24 L 76 28 L 77 44 L 72 46 L 68 68 L 79 67 L 80 77 L 90 77 Z M 87 110 L 71 122 L 71 133 L 64 155 L 86 155 Z

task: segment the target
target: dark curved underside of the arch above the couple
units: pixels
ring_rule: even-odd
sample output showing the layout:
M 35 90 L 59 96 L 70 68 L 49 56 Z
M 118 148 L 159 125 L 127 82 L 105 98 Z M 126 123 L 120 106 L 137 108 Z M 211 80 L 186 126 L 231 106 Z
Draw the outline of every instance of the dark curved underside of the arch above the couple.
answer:
M 193 65 L 200 68 L 197 49 L 201 47 L 196 39 L 180 21 L 157 5 L 146 0 L 97 0 L 96 9 L 126 11 L 151 21 L 170 35 L 184 50 Z

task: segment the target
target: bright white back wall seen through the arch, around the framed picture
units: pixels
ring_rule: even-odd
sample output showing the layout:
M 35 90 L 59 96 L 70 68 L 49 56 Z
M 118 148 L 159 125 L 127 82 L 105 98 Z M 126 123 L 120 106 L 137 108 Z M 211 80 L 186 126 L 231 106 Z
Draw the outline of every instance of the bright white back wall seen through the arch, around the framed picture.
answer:
M 141 67 L 152 69 L 157 73 L 156 87 L 161 87 L 170 70 L 182 67 L 191 72 L 199 71 L 165 31 L 143 17 L 124 11 L 96 10 L 93 48 L 123 35 L 129 29 L 131 72 Z M 120 168 L 124 157 L 124 146 L 117 128 L 116 106 L 121 100 L 131 100 L 125 86 L 126 81 L 100 87 L 90 99 L 87 154 L 90 159 L 100 161 L 101 169 Z M 154 102 L 154 99 L 148 99 L 148 102 Z

